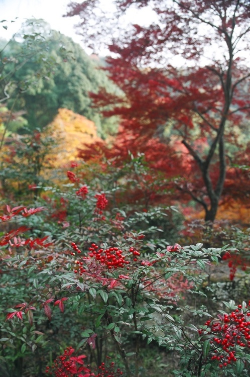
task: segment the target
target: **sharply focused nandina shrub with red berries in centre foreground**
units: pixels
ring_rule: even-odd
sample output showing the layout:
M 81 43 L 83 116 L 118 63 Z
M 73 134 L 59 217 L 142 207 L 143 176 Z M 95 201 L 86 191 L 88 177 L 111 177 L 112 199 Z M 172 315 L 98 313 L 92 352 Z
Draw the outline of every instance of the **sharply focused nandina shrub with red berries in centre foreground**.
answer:
M 191 247 L 175 244 L 143 256 L 144 234 L 123 236 L 126 237 L 120 238 L 119 243 L 114 240 L 111 246 L 92 243 L 87 250 L 81 250 L 72 242 L 71 251 L 64 255 L 51 254 L 50 250 L 50 260 L 46 251 L 45 259 L 40 259 L 41 251 L 35 259 L 29 254 L 22 255 L 21 259 L 18 255 L 8 257 L 5 261 L 8 268 L 29 272 L 35 266 L 32 272 L 36 277 L 31 281 L 34 289 L 24 290 L 26 301 L 17 302 L 8 309 L 7 323 L 19 327 L 21 322 L 22 327 L 28 319 L 36 328 L 41 323 L 41 316 L 51 321 L 56 310 L 62 315 L 64 311 L 67 315 L 71 311 L 74 322 L 86 312 L 83 321 L 85 326 L 91 324 L 91 329 L 80 330 L 82 339 L 77 347 L 88 345 L 94 350 L 101 343 L 100 338 L 106 339 L 109 349 L 116 347 L 128 376 L 139 373 L 143 339 L 147 343 L 154 341 L 175 348 L 182 338 L 184 326 L 181 318 L 171 315 L 173 306 L 181 308 L 178 279 L 183 281 L 184 290 L 196 292 L 206 278 L 205 274 L 203 277 L 197 275 L 197 270 L 211 264 L 208 258 L 216 262 L 222 250 L 201 250 L 202 244 Z M 163 285 L 164 280 L 168 290 L 165 295 L 159 295 L 159 285 Z M 32 315 L 33 312 L 36 314 Z M 84 322 L 78 323 L 81 329 Z M 130 363 L 127 353 L 131 346 L 126 347 L 127 333 L 132 335 L 135 344 Z M 29 346 L 27 338 L 22 336 L 20 339 L 25 339 L 25 347 Z M 8 341 L 10 339 L 6 340 L 7 344 Z M 12 344 L 15 345 L 13 339 Z M 97 356 L 100 358 L 100 354 Z

